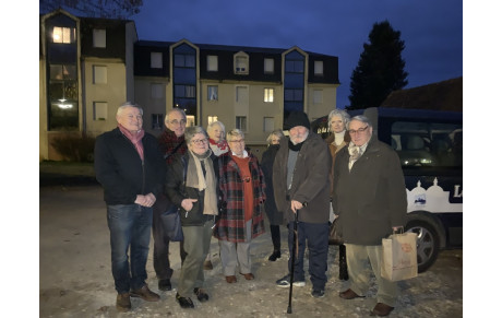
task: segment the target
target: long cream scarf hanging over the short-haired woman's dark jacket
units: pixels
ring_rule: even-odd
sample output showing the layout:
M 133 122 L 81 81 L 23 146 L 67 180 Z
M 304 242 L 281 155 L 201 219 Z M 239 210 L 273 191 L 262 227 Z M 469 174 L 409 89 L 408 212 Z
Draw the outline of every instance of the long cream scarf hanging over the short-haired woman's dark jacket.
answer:
M 204 154 L 198 155 L 189 150 L 189 162 L 187 167 L 187 187 L 204 191 L 204 210 L 203 214 L 218 215 L 218 205 L 216 202 L 216 177 L 213 168 L 213 161 L 208 149 Z M 205 178 L 202 172 L 201 162 L 204 163 Z

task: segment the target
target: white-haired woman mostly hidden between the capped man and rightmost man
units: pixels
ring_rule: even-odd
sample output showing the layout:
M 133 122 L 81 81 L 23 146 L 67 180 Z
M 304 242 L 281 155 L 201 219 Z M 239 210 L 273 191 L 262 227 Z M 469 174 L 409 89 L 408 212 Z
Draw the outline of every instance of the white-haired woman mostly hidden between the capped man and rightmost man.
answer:
M 350 136 L 347 131 L 347 123 L 350 120 L 350 116 L 347 111 L 343 109 L 335 109 L 330 113 L 327 116 L 327 122 L 330 125 L 330 131 L 332 132 L 327 138 L 326 142 L 330 146 L 331 156 L 333 158 L 333 164 L 331 166 L 330 172 L 330 180 L 331 180 L 331 189 L 333 190 L 333 167 L 335 166 L 335 157 L 336 154 L 350 142 Z M 333 191 L 331 191 L 333 192 Z M 330 193 L 331 193 L 330 192 Z M 334 222 L 334 219 L 337 216 L 333 213 L 333 207 L 330 204 L 331 212 L 330 212 L 330 221 Z M 334 225 L 334 224 L 333 224 Z M 338 262 L 339 262 L 339 274 L 338 278 L 340 280 L 346 281 L 348 279 L 347 273 L 347 262 L 346 262 L 346 252 L 345 252 L 345 245 L 340 245 L 338 247 Z

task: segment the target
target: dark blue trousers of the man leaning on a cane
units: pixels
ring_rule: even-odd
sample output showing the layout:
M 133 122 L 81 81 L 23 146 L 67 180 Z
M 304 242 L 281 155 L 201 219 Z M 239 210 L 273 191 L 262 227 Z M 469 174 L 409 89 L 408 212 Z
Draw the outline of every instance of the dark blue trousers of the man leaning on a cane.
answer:
M 291 256 L 294 244 L 294 227 L 295 222 L 289 222 L 288 229 L 288 246 L 289 261 L 288 270 L 291 272 Z M 324 291 L 327 282 L 327 249 L 328 249 L 328 233 L 330 224 L 326 223 L 304 223 L 298 222 L 298 258 L 295 256 L 295 272 L 292 273 L 295 281 L 304 281 L 303 271 L 303 255 L 306 251 L 306 243 L 309 248 L 309 274 L 313 290 Z

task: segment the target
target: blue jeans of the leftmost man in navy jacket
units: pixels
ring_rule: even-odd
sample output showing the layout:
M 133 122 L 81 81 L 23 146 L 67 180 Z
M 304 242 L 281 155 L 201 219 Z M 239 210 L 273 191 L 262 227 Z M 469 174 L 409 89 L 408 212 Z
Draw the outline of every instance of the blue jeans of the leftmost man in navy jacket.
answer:
M 143 287 L 146 280 L 152 208 L 139 204 L 107 205 L 110 229 L 111 273 L 119 294 Z M 131 264 L 128 249 L 131 247 Z

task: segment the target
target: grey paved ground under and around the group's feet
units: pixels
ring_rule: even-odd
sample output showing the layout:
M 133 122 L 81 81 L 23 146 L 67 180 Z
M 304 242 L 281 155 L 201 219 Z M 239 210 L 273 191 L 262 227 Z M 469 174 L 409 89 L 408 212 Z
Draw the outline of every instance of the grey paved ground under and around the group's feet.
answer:
M 254 281 L 238 278 L 237 284 L 227 284 L 222 274 L 217 242 L 213 239 L 211 251 L 215 268 L 205 272 L 210 302 L 195 302 L 195 309 L 183 310 L 175 301 L 176 291 L 171 291 L 160 293 L 157 303 L 133 299 L 131 313 L 118 314 L 101 188 L 92 184 L 40 187 L 39 200 L 40 317 L 367 317 L 375 304 L 374 286 L 366 298 L 343 301 L 338 297 L 345 286 L 337 279 L 336 247 L 331 246 L 326 296 L 312 298 L 307 280 L 307 286 L 294 288 L 292 315 L 287 315 L 289 290 L 274 284 L 287 272 L 286 231 L 283 231 L 283 257 L 276 262 L 267 261 L 272 250 L 270 234 L 254 240 Z M 147 283 L 157 292 L 152 249 L 153 239 Z M 178 244 L 171 244 L 171 249 L 176 288 L 180 269 Z M 429 271 L 399 282 L 399 288 L 402 294 L 391 317 L 462 317 L 463 251 L 441 252 Z

